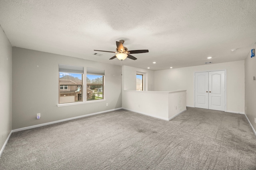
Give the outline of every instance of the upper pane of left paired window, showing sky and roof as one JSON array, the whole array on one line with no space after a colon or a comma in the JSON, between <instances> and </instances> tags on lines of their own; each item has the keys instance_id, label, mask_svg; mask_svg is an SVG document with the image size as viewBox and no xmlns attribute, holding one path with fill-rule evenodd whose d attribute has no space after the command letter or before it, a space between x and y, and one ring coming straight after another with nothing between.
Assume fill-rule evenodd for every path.
<instances>
[{"instance_id":1,"label":"upper pane of left paired window, showing sky and roof","mask_svg":"<svg viewBox=\"0 0 256 170\"><path fill-rule=\"evenodd\" d=\"M60 84L82 84L82 74L60 72Z\"/></svg>"}]
</instances>

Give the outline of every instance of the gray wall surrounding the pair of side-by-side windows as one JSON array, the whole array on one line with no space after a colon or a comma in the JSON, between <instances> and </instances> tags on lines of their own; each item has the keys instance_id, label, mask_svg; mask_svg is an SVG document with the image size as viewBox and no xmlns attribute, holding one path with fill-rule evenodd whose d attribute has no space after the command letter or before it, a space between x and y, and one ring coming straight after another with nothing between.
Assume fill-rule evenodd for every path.
<instances>
[{"instance_id":1,"label":"gray wall surrounding the pair of side-by-side windows","mask_svg":"<svg viewBox=\"0 0 256 170\"><path fill-rule=\"evenodd\" d=\"M18 47L12 60L12 129L122 107L120 66ZM57 107L58 64L104 69L106 101Z\"/></svg>"}]
</instances>

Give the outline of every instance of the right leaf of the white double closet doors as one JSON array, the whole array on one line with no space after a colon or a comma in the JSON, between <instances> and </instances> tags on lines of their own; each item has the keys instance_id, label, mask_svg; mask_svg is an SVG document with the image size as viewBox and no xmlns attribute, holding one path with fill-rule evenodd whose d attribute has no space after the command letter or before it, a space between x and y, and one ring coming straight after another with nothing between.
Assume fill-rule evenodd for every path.
<instances>
[{"instance_id":1,"label":"right leaf of the white double closet doors","mask_svg":"<svg viewBox=\"0 0 256 170\"><path fill-rule=\"evenodd\" d=\"M225 110L225 72L209 72L209 109Z\"/></svg>"}]
</instances>

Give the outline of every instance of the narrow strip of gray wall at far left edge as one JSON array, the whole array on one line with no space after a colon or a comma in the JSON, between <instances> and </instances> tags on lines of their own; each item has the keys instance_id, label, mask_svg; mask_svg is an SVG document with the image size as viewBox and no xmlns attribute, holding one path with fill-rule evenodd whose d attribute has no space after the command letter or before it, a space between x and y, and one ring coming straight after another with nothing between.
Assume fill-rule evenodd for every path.
<instances>
[{"instance_id":1,"label":"narrow strip of gray wall at far left edge","mask_svg":"<svg viewBox=\"0 0 256 170\"><path fill-rule=\"evenodd\" d=\"M0 150L12 130L12 46L0 27ZM1 154L1 153L0 153Z\"/></svg>"}]
</instances>

